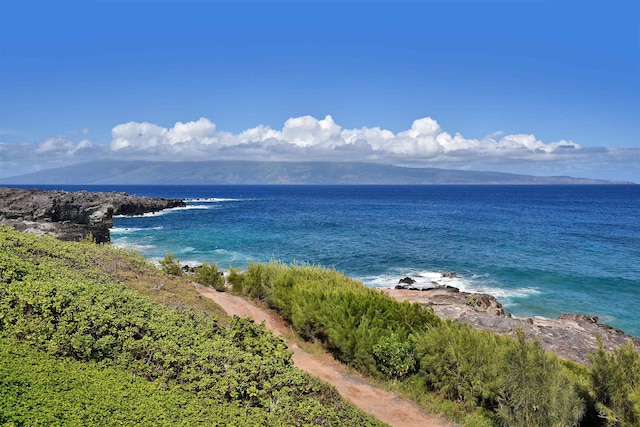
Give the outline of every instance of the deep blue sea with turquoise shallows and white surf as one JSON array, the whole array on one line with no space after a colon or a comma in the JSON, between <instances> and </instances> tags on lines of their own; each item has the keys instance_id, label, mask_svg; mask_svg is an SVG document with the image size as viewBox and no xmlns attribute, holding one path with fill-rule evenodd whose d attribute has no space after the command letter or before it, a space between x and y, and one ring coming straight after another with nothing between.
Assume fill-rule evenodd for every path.
<instances>
[{"instance_id":1,"label":"deep blue sea with turquoise shallows and white surf","mask_svg":"<svg viewBox=\"0 0 640 427\"><path fill-rule=\"evenodd\" d=\"M304 261L374 287L412 276L491 293L515 315L586 313L640 336L640 186L87 189L189 199L115 220L113 242L151 259Z\"/></svg>"}]
</instances>

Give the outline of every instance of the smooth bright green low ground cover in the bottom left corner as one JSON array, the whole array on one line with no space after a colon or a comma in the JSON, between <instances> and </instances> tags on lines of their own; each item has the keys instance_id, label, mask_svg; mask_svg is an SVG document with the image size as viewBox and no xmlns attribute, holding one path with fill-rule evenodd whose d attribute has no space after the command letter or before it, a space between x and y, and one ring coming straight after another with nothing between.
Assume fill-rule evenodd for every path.
<instances>
[{"instance_id":1,"label":"smooth bright green low ground cover in the bottom left corner","mask_svg":"<svg viewBox=\"0 0 640 427\"><path fill-rule=\"evenodd\" d=\"M253 408L198 398L122 369L59 359L0 338L0 425L284 424Z\"/></svg>"}]
</instances>

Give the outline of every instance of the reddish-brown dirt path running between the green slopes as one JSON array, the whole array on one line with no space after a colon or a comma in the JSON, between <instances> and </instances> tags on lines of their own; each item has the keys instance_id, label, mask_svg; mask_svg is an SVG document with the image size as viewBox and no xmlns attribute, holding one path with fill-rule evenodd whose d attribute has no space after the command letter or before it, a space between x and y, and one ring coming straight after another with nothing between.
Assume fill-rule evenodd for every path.
<instances>
[{"instance_id":1,"label":"reddish-brown dirt path running between the green slopes","mask_svg":"<svg viewBox=\"0 0 640 427\"><path fill-rule=\"evenodd\" d=\"M257 323L266 323L274 335L282 335L287 325L277 314L257 307L249 301L217 292L195 284L203 296L212 299L231 316L251 317ZM351 403L377 419L396 427L453 427L442 417L426 414L415 403L380 389L363 378L347 373L337 361L319 357L303 351L296 344L289 345L293 351L293 363L303 371L333 385Z\"/></svg>"}]
</instances>

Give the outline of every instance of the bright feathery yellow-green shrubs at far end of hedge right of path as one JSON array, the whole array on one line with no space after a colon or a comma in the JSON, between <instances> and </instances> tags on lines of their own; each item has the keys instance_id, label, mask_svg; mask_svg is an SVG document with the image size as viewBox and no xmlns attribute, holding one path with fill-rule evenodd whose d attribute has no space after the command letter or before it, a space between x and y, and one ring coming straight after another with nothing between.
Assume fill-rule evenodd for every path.
<instances>
[{"instance_id":1,"label":"bright feathery yellow-green shrubs at far end of hedge right of path","mask_svg":"<svg viewBox=\"0 0 640 427\"><path fill-rule=\"evenodd\" d=\"M382 375L373 347L395 335L440 323L418 304L400 303L335 270L277 261L250 264L242 275L230 274L235 293L258 298L278 310L303 338L319 340L341 361Z\"/></svg>"}]
</instances>

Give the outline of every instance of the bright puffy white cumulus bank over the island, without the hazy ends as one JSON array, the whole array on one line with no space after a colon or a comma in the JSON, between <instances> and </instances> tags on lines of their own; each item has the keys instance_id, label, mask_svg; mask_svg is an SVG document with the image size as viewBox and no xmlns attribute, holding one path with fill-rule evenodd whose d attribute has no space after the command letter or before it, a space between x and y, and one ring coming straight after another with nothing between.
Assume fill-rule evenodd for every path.
<instances>
[{"instance_id":1,"label":"bright puffy white cumulus bank over the island, without the hazy ends","mask_svg":"<svg viewBox=\"0 0 640 427\"><path fill-rule=\"evenodd\" d=\"M343 129L327 115L293 117L282 129L259 125L239 134L221 132L206 118L171 128L129 122L112 130L110 148L129 156L167 159L352 160L411 164L462 164L480 161L550 161L579 155L573 141L545 143L532 134L482 139L450 134L431 117L405 131L379 127ZM348 156L348 157L347 157Z\"/></svg>"}]
</instances>

